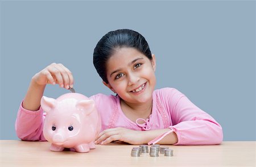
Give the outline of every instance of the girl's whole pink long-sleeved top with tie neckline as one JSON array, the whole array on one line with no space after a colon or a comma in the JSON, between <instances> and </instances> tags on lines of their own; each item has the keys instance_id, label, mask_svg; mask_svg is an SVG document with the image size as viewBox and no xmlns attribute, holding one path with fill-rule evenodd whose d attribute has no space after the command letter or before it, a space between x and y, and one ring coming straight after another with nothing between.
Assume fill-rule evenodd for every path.
<instances>
[{"instance_id":1,"label":"girl's whole pink long-sleeved top with tie neckline","mask_svg":"<svg viewBox=\"0 0 256 167\"><path fill-rule=\"evenodd\" d=\"M101 131L114 127L125 127L137 131L170 128L177 134L176 145L221 143L223 134L220 124L212 116L195 106L180 91L166 87L155 90L152 98L150 118L137 119L137 123L134 123L123 114L118 95L96 94L90 97L96 102L97 109L101 114ZM24 109L21 104L15 122L18 137L22 140L45 141L43 136L44 117L45 114L41 107L38 111L30 111ZM139 124L142 122L139 120L143 120L144 123Z\"/></svg>"}]
</instances>

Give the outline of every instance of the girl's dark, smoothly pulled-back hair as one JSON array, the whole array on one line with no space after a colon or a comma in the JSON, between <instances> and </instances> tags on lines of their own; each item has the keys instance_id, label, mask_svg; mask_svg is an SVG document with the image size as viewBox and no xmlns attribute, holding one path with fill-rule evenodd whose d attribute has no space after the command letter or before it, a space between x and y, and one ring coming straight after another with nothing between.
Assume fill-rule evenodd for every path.
<instances>
[{"instance_id":1,"label":"girl's dark, smoothly pulled-back hair","mask_svg":"<svg viewBox=\"0 0 256 167\"><path fill-rule=\"evenodd\" d=\"M123 47L135 48L152 60L150 48L141 34L128 29L110 31L98 41L93 52L93 64L106 83L109 83L106 77L106 62L114 54L115 49Z\"/></svg>"}]
</instances>

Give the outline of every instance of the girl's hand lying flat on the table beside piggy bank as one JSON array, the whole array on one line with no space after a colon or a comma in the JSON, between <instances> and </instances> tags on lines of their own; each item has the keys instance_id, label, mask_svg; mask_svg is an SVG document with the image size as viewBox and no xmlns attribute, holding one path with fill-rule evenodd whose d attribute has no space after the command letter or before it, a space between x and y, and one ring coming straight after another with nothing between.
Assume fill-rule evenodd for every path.
<instances>
[{"instance_id":1,"label":"girl's hand lying flat on the table beside piggy bank","mask_svg":"<svg viewBox=\"0 0 256 167\"><path fill-rule=\"evenodd\" d=\"M117 140L130 144L143 144L141 131L133 131L123 127L110 128L100 132L94 143L108 144Z\"/></svg>"}]
</instances>

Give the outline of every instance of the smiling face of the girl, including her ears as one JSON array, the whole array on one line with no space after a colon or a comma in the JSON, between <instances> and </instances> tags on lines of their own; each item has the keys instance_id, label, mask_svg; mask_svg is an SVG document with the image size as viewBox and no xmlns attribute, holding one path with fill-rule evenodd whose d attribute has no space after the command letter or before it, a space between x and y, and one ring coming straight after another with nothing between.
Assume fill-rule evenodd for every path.
<instances>
[{"instance_id":1,"label":"smiling face of the girl, including her ears","mask_svg":"<svg viewBox=\"0 0 256 167\"><path fill-rule=\"evenodd\" d=\"M149 60L134 48L117 49L106 62L106 86L126 103L152 101L155 88L155 55Z\"/></svg>"}]
</instances>

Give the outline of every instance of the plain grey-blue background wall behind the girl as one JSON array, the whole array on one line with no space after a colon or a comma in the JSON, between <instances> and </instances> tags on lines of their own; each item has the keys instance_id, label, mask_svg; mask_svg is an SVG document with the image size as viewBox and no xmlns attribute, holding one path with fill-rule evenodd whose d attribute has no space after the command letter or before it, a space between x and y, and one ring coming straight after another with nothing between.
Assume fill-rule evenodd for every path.
<instances>
[{"instance_id":1,"label":"plain grey-blue background wall behind the girl","mask_svg":"<svg viewBox=\"0 0 256 167\"><path fill-rule=\"evenodd\" d=\"M255 1L1 1L1 139L31 77L52 62L87 96L111 94L93 49L119 28L140 32L156 55L156 89L175 87L213 116L224 140L255 140ZM44 95L68 93L48 85Z\"/></svg>"}]
</instances>

